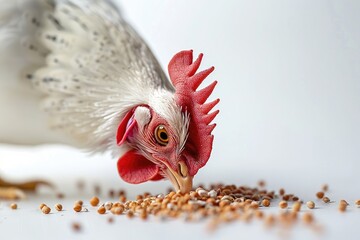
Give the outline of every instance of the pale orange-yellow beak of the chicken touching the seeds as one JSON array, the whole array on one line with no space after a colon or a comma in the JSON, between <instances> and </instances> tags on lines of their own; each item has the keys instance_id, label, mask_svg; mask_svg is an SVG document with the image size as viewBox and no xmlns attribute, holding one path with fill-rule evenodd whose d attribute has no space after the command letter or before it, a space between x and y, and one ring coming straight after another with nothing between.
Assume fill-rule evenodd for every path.
<instances>
[{"instance_id":1,"label":"pale orange-yellow beak of the chicken touching the seeds","mask_svg":"<svg viewBox=\"0 0 360 240\"><path fill-rule=\"evenodd\" d=\"M191 191L193 176L189 175L188 167L183 161L178 163L177 171L174 171L171 167L167 166L164 172L170 179L176 191L180 190L181 193Z\"/></svg>"}]
</instances>

